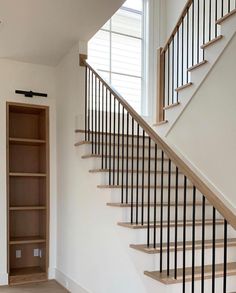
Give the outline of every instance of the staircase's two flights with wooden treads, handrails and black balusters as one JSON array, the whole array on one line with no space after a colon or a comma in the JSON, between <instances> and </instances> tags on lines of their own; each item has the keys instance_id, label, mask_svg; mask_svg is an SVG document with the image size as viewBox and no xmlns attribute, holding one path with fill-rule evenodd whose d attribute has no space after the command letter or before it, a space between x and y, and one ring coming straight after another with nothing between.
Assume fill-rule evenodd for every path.
<instances>
[{"instance_id":1,"label":"staircase's two flights with wooden treads, handrails and black balusters","mask_svg":"<svg viewBox=\"0 0 236 293\"><path fill-rule=\"evenodd\" d=\"M209 0L207 3L212 5L213 2ZM169 58L170 45L176 36L179 44L179 29L184 31L186 17L189 22L190 9L194 15L194 7L198 7L200 19L199 3L187 2L168 45L160 50L163 70L159 75L160 124L166 123L165 111L179 104L178 93L192 86L188 72L207 63L200 48L204 50L222 38L214 26L214 33L209 33L207 42L198 42L198 49L192 48L190 68L183 61L184 53L182 59L178 54L176 59L173 50L173 60L179 61L177 69L172 63L174 78L166 83L170 68L166 67L165 58ZM224 14L225 2L215 1L214 9L209 7L209 17L213 19L213 12L216 18L218 9L223 15L219 20L214 18L217 23L233 16L235 6L232 8L230 1L226 4L227 13ZM206 10L201 11L204 16ZM183 31L182 36L185 35ZM200 35L200 29L197 35ZM211 39L212 35L215 37ZM195 64L193 56L196 53ZM83 154L82 158L94 161L90 173L104 175L104 182L97 187L111 189L114 194L107 205L124 210L126 220L118 225L139 233L140 239L145 239L141 243L130 244L134 251L154 258L155 269L144 274L162 284L172 285L170 290L173 292L235 291L235 215L87 61L83 60L83 65L85 129L76 130L83 136L76 146L89 147L89 153ZM174 90L180 68L182 75L187 74L186 83L182 78ZM187 73L184 73L184 68ZM169 90L170 84L172 91Z\"/></svg>"}]
</instances>

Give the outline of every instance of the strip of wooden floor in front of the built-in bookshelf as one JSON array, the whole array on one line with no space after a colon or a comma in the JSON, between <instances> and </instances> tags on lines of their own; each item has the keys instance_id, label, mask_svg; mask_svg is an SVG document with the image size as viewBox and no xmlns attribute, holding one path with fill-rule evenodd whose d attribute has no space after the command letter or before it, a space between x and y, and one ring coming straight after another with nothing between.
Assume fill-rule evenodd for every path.
<instances>
[{"instance_id":1,"label":"strip of wooden floor in front of the built-in bookshelf","mask_svg":"<svg viewBox=\"0 0 236 293\"><path fill-rule=\"evenodd\" d=\"M1 293L66 293L69 292L55 281L14 287L0 287Z\"/></svg>"}]
</instances>

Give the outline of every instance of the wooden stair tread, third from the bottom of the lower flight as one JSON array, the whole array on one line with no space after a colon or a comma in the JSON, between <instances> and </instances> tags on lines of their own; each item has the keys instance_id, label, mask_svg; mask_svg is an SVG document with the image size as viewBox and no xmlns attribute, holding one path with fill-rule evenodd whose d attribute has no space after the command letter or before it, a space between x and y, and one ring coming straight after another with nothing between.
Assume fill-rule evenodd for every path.
<instances>
[{"instance_id":1,"label":"wooden stair tread, third from the bottom of the lower flight","mask_svg":"<svg viewBox=\"0 0 236 293\"><path fill-rule=\"evenodd\" d=\"M212 225L213 221L212 220L205 220L205 226L210 226ZM186 221L186 226L192 226L193 222L192 220L187 220ZM223 225L224 224L224 220L221 219L217 219L216 220L216 225ZM130 228L130 229L146 229L148 227L147 222L144 222L143 225L141 223L139 224L131 224L130 222L119 222L118 223L119 226L121 227L125 227L125 228ZM167 227L168 223L167 221L163 221L162 225L164 228ZM202 225L202 220L196 220L195 221L195 226L201 226ZM177 223L178 227L182 227L183 226L183 221L178 221ZM150 222L150 228L154 227L154 222ZM160 228L161 227L161 222L157 221L156 222L156 228ZM170 221L170 227L175 227L175 221Z\"/></svg>"}]
</instances>

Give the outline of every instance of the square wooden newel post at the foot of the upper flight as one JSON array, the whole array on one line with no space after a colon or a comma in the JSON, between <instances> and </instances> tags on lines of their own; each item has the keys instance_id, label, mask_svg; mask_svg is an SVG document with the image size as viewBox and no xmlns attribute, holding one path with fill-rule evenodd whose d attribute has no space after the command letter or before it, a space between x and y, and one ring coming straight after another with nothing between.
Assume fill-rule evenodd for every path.
<instances>
[{"instance_id":1,"label":"square wooden newel post at the foot of the upper flight","mask_svg":"<svg viewBox=\"0 0 236 293\"><path fill-rule=\"evenodd\" d=\"M157 50L157 123L163 122L164 117L164 78L165 78L165 54L162 48Z\"/></svg>"}]
</instances>

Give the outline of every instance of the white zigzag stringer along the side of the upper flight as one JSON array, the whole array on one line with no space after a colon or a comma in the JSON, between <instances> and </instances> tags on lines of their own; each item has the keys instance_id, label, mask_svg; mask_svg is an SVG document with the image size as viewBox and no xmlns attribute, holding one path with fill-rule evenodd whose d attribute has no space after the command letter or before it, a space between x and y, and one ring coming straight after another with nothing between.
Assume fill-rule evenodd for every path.
<instances>
[{"instance_id":1,"label":"white zigzag stringer along the side of the upper flight","mask_svg":"<svg viewBox=\"0 0 236 293\"><path fill-rule=\"evenodd\" d=\"M193 84L179 93L180 104L177 107L172 107L165 111L165 120L167 120L168 123L153 126L154 130L160 136L165 137L171 131L184 109L188 106L202 83L211 73L211 70L227 48L227 45L230 43L235 33L236 14L233 14L221 24L221 34L223 35L223 38L205 48L205 60L207 63L190 72L190 81Z\"/></svg>"}]
</instances>

